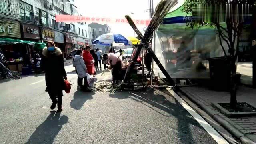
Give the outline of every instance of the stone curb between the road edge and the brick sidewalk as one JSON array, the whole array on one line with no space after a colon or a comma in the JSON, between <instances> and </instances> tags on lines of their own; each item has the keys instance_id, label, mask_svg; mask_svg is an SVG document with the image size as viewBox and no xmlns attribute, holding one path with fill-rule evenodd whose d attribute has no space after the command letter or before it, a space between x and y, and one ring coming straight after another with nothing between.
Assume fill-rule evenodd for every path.
<instances>
[{"instance_id":1,"label":"stone curb between the road edge and the brick sidewalk","mask_svg":"<svg viewBox=\"0 0 256 144\"><path fill-rule=\"evenodd\" d=\"M236 127L234 127L232 124L230 124L227 120L222 118L220 114L206 106L204 103L200 102L196 98L194 98L191 95L186 94L186 92L182 91L180 88L178 89L180 92L188 97L192 102L197 104L204 110L210 117L212 117L214 120L216 120L219 124L221 124L224 128L226 128L228 131L230 131L236 138L240 139L243 144L256 144L253 142L250 138L245 136L240 130L238 130Z\"/></svg>"}]
</instances>

